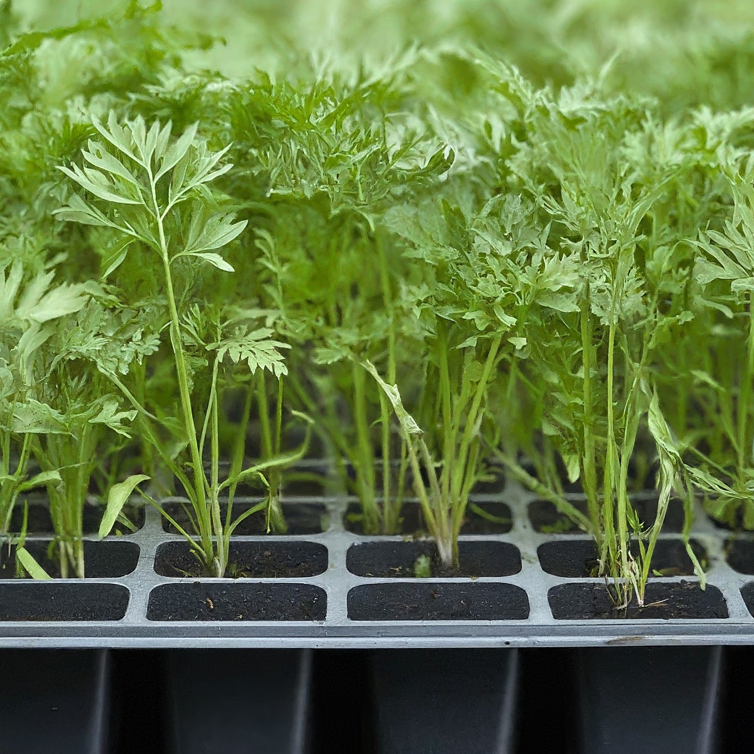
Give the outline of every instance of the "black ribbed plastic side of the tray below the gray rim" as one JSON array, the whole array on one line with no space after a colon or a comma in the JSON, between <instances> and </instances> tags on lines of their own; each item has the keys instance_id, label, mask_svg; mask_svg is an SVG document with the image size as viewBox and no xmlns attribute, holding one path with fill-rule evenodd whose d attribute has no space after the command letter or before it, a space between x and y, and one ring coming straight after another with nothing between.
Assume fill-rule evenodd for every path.
<instances>
[{"instance_id":1,"label":"black ribbed plastic side of the tray below the gray rim","mask_svg":"<svg viewBox=\"0 0 754 754\"><path fill-rule=\"evenodd\" d=\"M751 748L751 712L730 677L748 677L748 650L6 649L2 659L0 754Z\"/></svg>"}]
</instances>

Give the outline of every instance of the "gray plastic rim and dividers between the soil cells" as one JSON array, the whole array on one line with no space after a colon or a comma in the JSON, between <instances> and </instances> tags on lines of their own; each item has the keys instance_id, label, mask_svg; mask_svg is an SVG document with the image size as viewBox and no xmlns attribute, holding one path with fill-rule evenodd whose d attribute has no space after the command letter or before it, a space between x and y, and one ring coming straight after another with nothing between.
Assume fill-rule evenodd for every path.
<instances>
[{"instance_id":1,"label":"gray plastic rim and dividers between the soil cells","mask_svg":"<svg viewBox=\"0 0 754 754\"><path fill-rule=\"evenodd\" d=\"M466 540L507 541L519 548L522 569L504 578L480 578L516 584L529 596L529 618L523 621L351 621L347 615L348 590L357 584L395 583L397 579L364 578L348 572L345 554L351 544L374 540L373 537L346 532L342 526L345 507L353 498L297 497L284 504L320 502L326 505L329 527L317 535L287 535L288 539L314 541L329 551L329 568L311 578L250 579L251 582L288 581L314 584L325 590L328 610L325 621L233 622L158 622L146 619L149 592L158 584L196 581L158 575L153 562L159 544L180 540L161 528L158 511L147 508L143 529L120 539L139 544L136 570L113 579L87 579L87 582L122 584L130 591L127 613L121 621L41 622L0 621L0 647L67 647L67 648L431 648L431 647L538 647L599 645L746 645L754 643L754 618L749 614L740 587L754 576L735 572L725 561L725 541L730 532L718 529L700 510L693 530L706 547L710 568L708 584L721 590L728 605L729 618L715 620L590 620L556 621L547 602L547 591L556 584L572 583L541 569L537 547L545 541L572 539L574 535L535 532L529 522L527 507L535 498L513 483L495 495L474 495L477 502L502 501L513 513L510 532L498 535L468 535ZM678 535L661 535L677 537ZM253 541L268 536L238 536L238 541ZM29 538L31 539L31 538ZM401 537L394 539L400 540ZM663 578L662 581L691 581L691 577ZM210 579L202 581L213 581ZM405 581L405 580L404 580ZM452 581L470 581L457 578ZM579 579L594 581L599 579ZM31 586L31 584L30 584Z\"/></svg>"}]
</instances>

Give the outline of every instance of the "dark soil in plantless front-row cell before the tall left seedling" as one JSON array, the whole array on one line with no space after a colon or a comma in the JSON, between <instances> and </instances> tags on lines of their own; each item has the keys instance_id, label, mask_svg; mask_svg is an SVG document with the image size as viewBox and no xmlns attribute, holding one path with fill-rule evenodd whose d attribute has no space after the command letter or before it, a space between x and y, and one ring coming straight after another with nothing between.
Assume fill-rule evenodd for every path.
<instances>
[{"instance_id":1,"label":"dark soil in plantless front-row cell before the tall left seedling","mask_svg":"<svg viewBox=\"0 0 754 754\"><path fill-rule=\"evenodd\" d=\"M311 584L195 581L149 593L149 621L323 621L327 595Z\"/></svg>"}]
</instances>

